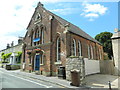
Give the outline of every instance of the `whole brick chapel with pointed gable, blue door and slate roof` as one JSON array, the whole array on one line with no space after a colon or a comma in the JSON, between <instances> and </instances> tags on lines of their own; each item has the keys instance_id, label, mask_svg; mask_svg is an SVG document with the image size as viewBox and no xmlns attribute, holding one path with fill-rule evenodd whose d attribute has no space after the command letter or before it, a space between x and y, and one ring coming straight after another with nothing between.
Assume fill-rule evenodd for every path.
<instances>
[{"instance_id":1,"label":"whole brick chapel with pointed gable, blue door and slate roof","mask_svg":"<svg viewBox=\"0 0 120 90\"><path fill-rule=\"evenodd\" d=\"M77 26L46 10L40 2L24 37L22 67L45 76L57 75L66 58L103 60L103 47Z\"/></svg>"}]
</instances>

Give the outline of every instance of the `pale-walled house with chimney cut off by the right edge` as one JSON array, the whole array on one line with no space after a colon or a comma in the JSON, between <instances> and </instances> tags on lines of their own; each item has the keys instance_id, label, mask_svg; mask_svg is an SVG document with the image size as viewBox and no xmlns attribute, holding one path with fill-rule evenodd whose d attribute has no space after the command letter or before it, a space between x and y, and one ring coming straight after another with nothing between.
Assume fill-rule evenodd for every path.
<instances>
[{"instance_id":1,"label":"pale-walled house with chimney cut off by the right edge","mask_svg":"<svg viewBox=\"0 0 120 90\"><path fill-rule=\"evenodd\" d=\"M112 38L112 48L113 48L113 57L115 61L115 74L120 75L120 31L118 29L114 30Z\"/></svg>"}]
</instances>

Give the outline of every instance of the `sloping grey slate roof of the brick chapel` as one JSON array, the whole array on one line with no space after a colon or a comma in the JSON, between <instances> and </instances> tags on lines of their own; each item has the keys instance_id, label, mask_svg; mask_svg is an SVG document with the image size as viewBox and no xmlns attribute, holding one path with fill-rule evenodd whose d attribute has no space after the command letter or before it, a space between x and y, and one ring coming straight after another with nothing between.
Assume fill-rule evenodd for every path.
<instances>
[{"instance_id":1,"label":"sloping grey slate roof of the brick chapel","mask_svg":"<svg viewBox=\"0 0 120 90\"><path fill-rule=\"evenodd\" d=\"M47 10L47 11L48 11L48 10ZM48 13L50 13L52 16L54 16L54 18L56 18L62 25L65 26L65 25L69 24L69 30L68 30L68 31L70 31L70 32L72 32L72 33L75 33L75 34L77 34L77 35L80 35L80 36L82 36L82 37L84 37L84 38L86 38L86 39L88 39L88 40L91 40L91 41L93 41L93 42L96 42L96 43L99 43L99 44L100 44L100 42L98 42L97 40L95 40L94 38L92 38L90 35L88 35L87 33L85 33L85 32L84 32L82 29L80 29L79 27L73 25L72 23L70 23L70 22L66 21L65 19L63 19L63 18L55 15L54 13L52 13L52 12L50 12L50 11L48 11Z\"/></svg>"}]
</instances>

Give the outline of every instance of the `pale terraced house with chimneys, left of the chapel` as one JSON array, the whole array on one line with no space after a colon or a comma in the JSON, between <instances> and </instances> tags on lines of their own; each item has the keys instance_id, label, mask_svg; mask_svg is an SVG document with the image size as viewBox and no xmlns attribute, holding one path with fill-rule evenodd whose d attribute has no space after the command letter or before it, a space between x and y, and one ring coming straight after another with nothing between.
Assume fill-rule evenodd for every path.
<instances>
[{"instance_id":1,"label":"pale terraced house with chimneys, left of the chapel","mask_svg":"<svg viewBox=\"0 0 120 90\"><path fill-rule=\"evenodd\" d=\"M7 44L6 49L0 50L0 59L1 61L3 61L2 59L2 53L4 54L9 54L9 57L5 60L7 62L9 62L9 64L16 64L16 63L20 63L21 62L21 57L17 57L18 52L22 52L22 37L19 37L18 39L18 44L14 45L14 42L10 44Z\"/></svg>"}]
</instances>

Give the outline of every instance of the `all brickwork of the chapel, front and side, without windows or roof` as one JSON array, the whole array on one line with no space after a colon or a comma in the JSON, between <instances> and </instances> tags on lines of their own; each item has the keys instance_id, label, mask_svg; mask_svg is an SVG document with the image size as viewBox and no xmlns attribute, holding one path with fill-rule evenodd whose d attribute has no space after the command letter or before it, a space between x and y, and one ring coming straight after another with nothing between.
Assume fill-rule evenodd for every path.
<instances>
[{"instance_id":1,"label":"all brickwork of the chapel, front and side, without windows or roof","mask_svg":"<svg viewBox=\"0 0 120 90\"><path fill-rule=\"evenodd\" d=\"M35 15L36 12L41 13L41 22L38 25L35 25ZM77 45L77 51L78 51L78 40L81 41L82 44L82 56L84 58L88 57L88 47L87 45L92 45L94 48L94 59L100 59L100 55L99 55L99 50L102 50L102 46L87 40L81 36L78 36L76 34L67 32L67 33L63 33L65 31L65 27L63 25L61 25L61 23L56 20L54 17L53 19L49 19L50 15L43 10L43 8L37 7L36 8L36 12L33 14L33 17L31 19L31 22L28 26L28 31L26 33L24 42L26 43L26 47L24 48L25 50L28 50L29 47L33 48L33 46L31 46L32 40L31 40L31 35L33 34L34 30L36 27L41 27L41 24L45 27L44 29L44 44L38 46L39 48L41 48L44 52L44 64L41 65L40 67L40 71L44 71L44 72L49 72L49 75L55 75L55 72L57 73L58 67L59 66L65 66L66 64L66 57L69 57L71 55L71 45L72 45L72 39L76 40L76 45ZM57 37L60 37L60 41L61 41L61 64L55 64L56 62L56 41L57 41ZM23 50L24 50L23 49ZM32 49L34 50L34 49ZM25 54L25 53L23 53ZM103 55L103 53L101 54ZM78 56L78 52L77 52L77 56ZM102 56L103 58L103 56ZM24 57L23 57L23 61L24 61ZM33 70L34 67L34 55L32 56L32 66L29 66L29 58L28 55L25 54L25 62L26 62L26 70ZM50 73L52 72L52 73Z\"/></svg>"}]
</instances>

